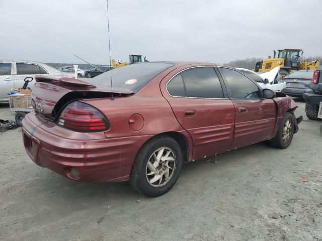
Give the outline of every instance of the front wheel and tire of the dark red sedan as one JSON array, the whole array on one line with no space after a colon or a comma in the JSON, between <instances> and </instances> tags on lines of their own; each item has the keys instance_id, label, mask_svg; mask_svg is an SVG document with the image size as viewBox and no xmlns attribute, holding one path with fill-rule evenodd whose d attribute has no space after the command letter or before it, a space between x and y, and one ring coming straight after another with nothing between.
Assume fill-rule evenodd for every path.
<instances>
[{"instance_id":1,"label":"front wheel and tire of the dark red sedan","mask_svg":"<svg viewBox=\"0 0 322 241\"><path fill-rule=\"evenodd\" d=\"M291 144L295 131L294 116L286 112L277 130L276 136L269 140L271 147L285 149Z\"/></svg>"}]
</instances>

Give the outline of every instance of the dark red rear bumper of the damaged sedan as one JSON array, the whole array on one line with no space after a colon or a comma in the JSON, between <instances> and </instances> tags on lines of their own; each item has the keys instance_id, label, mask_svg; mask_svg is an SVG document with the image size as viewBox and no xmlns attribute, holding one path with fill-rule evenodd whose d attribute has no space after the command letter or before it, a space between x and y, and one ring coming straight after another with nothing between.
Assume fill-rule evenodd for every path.
<instances>
[{"instance_id":1,"label":"dark red rear bumper of the damaged sedan","mask_svg":"<svg viewBox=\"0 0 322 241\"><path fill-rule=\"evenodd\" d=\"M60 128L60 132L54 132ZM29 157L39 166L78 181L128 180L132 163L140 147L151 136L107 139L102 135L89 139L88 133L76 133L52 127L34 113L23 119L22 135ZM82 135L84 138L82 140ZM104 137L104 138L103 138ZM78 176L71 169L76 168Z\"/></svg>"}]
</instances>

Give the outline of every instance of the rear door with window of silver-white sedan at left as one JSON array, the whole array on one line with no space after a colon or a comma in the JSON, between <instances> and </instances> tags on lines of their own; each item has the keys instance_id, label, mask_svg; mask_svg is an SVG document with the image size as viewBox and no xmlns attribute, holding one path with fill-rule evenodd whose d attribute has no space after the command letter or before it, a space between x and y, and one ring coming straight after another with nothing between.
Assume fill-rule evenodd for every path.
<instances>
[{"instance_id":1,"label":"rear door with window of silver-white sedan at left","mask_svg":"<svg viewBox=\"0 0 322 241\"><path fill-rule=\"evenodd\" d=\"M36 74L47 75L48 72L37 64L31 63L16 63L15 74L15 88L22 88L25 83L26 77L33 77L35 79ZM31 88L35 80L29 83L28 87Z\"/></svg>"}]
</instances>

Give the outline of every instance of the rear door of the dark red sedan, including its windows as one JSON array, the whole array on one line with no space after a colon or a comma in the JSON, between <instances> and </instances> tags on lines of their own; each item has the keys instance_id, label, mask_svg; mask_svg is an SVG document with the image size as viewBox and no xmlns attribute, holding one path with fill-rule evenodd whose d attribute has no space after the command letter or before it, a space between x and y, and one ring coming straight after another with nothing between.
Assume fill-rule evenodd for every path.
<instances>
[{"instance_id":1,"label":"rear door of the dark red sedan, including its windows","mask_svg":"<svg viewBox=\"0 0 322 241\"><path fill-rule=\"evenodd\" d=\"M163 95L192 137L193 160L227 151L233 136L234 106L215 67L183 67L169 75Z\"/></svg>"}]
</instances>

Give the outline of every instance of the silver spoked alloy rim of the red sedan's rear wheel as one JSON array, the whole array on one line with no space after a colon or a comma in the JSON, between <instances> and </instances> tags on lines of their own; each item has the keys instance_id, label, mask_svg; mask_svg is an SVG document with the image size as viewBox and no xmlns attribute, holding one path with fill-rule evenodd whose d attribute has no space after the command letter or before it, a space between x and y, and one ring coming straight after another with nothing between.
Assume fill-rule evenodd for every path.
<instances>
[{"instance_id":1,"label":"silver spoked alloy rim of the red sedan's rear wheel","mask_svg":"<svg viewBox=\"0 0 322 241\"><path fill-rule=\"evenodd\" d=\"M157 149L146 164L146 180L153 187L161 187L169 182L176 168L176 155L170 148Z\"/></svg>"}]
</instances>

